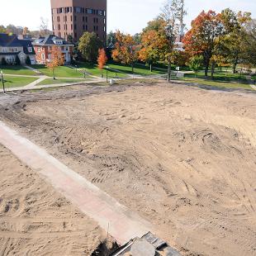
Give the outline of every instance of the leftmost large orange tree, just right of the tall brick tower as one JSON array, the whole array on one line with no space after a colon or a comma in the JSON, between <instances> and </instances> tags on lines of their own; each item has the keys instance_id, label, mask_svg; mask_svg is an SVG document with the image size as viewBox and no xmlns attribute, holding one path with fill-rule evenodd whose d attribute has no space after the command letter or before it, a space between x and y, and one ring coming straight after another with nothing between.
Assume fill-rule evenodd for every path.
<instances>
[{"instance_id":1,"label":"leftmost large orange tree, just right of the tall brick tower","mask_svg":"<svg viewBox=\"0 0 256 256\"><path fill-rule=\"evenodd\" d=\"M112 58L121 64L131 65L131 71L134 73L134 64L138 60L140 47L136 45L135 40L130 34L122 34L116 31L115 49L112 51Z\"/></svg>"}]
</instances>

